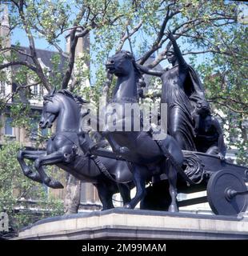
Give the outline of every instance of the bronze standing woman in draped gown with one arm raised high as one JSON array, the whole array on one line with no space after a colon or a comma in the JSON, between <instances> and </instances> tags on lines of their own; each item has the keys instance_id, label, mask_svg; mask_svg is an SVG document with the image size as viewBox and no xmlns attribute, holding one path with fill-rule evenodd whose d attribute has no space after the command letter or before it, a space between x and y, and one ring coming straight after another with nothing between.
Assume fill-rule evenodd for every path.
<instances>
[{"instance_id":1,"label":"bronze standing woman in draped gown with one arm raised high","mask_svg":"<svg viewBox=\"0 0 248 256\"><path fill-rule=\"evenodd\" d=\"M158 71L138 65L138 69L142 73L162 79L161 102L168 104L168 133L177 140L182 150L195 151L194 122L191 114L197 102L205 98L204 90L198 75L182 57L173 34L168 31L167 36L173 49L168 50L166 56L173 67Z\"/></svg>"}]
</instances>

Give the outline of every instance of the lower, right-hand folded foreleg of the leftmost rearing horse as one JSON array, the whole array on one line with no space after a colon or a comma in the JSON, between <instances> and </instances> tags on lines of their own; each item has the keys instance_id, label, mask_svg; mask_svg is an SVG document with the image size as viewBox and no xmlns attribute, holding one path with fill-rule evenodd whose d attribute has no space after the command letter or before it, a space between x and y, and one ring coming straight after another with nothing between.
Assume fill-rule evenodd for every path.
<instances>
[{"instance_id":1,"label":"lower, right-hand folded foreleg of the leftmost rearing horse","mask_svg":"<svg viewBox=\"0 0 248 256\"><path fill-rule=\"evenodd\" d=\"M58 181L54 181L52 178L48 177L46 172L43 170L43 165L53 165L58 162L63 162L64 155L61 152L54 152L52 154L41 155L34 161L34 167L38 170L41 175L42 181L46 186L50 186L54 189L62 189L64 186Z\"/></svg>"}]
</instances>

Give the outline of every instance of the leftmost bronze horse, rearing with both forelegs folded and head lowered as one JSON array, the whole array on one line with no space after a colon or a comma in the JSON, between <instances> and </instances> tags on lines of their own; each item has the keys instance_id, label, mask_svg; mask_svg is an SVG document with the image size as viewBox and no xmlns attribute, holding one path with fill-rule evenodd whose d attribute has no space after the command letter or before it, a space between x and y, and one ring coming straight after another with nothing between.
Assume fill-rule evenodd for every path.
<instances>
[{"instance_id":1,"label":"leftmost bronze horse, rearing with both forelegs folded and head lowered","mask_svg":"<svg viewBox=\"0 0 248 256\"><path fill-rule=\"evenodd\" d=\"M115 193L120 192L123 203L130 202L133 175L126 161L92 158L85 154L92 143L88 134L78 133L81 106L85 102L68 90L53 90L45 95L39 126L50 128L57 120L55 133L46 143L46 150L20 150L18 162L26 177L54 189L63 186L48 177L43 166L56 165L82 182L92 182L98 190L102 210L107 210L114 207L112 196ZM37 172L26 165L25 159L34 162ZM105 172L102 172L103 169Z\"/></svg>"}]
</instances>

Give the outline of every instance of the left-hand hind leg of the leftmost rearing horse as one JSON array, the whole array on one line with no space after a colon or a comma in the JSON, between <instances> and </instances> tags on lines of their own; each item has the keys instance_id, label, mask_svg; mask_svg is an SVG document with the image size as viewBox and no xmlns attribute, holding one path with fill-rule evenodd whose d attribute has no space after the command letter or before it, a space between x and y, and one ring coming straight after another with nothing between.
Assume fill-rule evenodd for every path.
<instances>
[{"instance_id":1,"label":"left-hand hind leg of the leftmost rearing horse","mask_svg":"<svg viewBox=\"0 0 248 256\"><path fill-rule=\"evenodd\" d=\"M113 192L110 191L110 185L106 186L105 183L97 183L94 186L98 190L98 196L102 202L102 210L108 210L114 208L113 205Z\"/></svg>"}]
</instances>

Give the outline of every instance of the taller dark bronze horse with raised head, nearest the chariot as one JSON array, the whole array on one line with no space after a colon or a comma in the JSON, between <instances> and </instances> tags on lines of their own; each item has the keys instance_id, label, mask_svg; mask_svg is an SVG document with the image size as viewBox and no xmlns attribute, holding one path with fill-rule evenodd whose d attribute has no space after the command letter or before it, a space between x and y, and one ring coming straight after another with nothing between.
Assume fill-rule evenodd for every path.
<instances>
[{"instance_id":1,"label":"taller dark bronze horse with raised head, nearest the chariot","mask_svg":"<svg viewBox=\"0 0 248 256\"><path fill-rule=\"evenodd\" d=\"M183 162L183 154L178 142L169 134L165 139L155 141L146 131L113 130L113 127L109 126L113 119L116 124L123 127L126 118L123 112L117 109L124 110L126 103L138 103L137 85L141 74L134 56L125 50L114 54L107 60L106 70L117 77L117 82L113 97L106 106L106 126L102 134L116 154L132 162L134 184L137 189L134 198L125 207L133 209L138 202L142 201L146 195L146 181L150 181L157 168L160 174L165 173L168 178L171 198L169 211L178 211L177 170ZM99 122L99 118L96 120L92 116L90 122ZM94 154L98 154L97 150Z\"/></svg>"}]
</instances>

